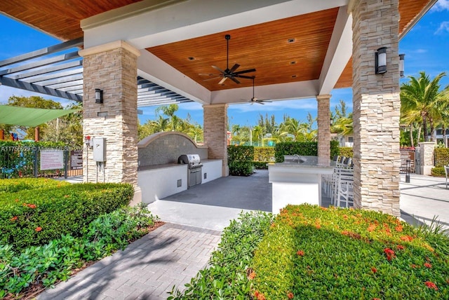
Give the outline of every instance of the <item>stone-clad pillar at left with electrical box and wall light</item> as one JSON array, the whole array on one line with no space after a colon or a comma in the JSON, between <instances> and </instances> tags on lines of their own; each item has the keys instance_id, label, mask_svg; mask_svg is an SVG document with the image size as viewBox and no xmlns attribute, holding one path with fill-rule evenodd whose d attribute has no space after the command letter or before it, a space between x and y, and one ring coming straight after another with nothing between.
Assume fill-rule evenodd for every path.
<instances>
[{"instance_id":1,"label":"stone-clad pillar at left with electrical box and wall light","mask_svg":"<svg viewBox=\"0 0 449 300\"><path fill-rule=\"evenodd\" d=\"M80 50L83 56L83 135L105 137L104 169L83 151L84 182L138 182L137 59L139 50L124 41ZM95 88L103 103L95 103Z\"/></svg>"}]
</instances>

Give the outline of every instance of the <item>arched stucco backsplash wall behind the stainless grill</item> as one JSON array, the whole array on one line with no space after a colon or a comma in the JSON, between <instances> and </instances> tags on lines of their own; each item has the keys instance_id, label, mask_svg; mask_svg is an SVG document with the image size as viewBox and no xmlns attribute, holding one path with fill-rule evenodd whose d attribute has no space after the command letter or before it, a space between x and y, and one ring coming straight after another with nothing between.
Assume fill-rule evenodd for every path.
<instances>
[{"instance_id":1,"label":"arched stucco backsplash wall behind the stainless grill","mask_svg":"<svg viewBox=\"0 0 449 300\"><path fill-rule=\"evenodd\" d=\"M199 154L201 161L208 158L207 146L197 146L182 132L164 131L149 135L138 143L140 167L177 163L182 154Z\"/></svg>"}]
</instances>

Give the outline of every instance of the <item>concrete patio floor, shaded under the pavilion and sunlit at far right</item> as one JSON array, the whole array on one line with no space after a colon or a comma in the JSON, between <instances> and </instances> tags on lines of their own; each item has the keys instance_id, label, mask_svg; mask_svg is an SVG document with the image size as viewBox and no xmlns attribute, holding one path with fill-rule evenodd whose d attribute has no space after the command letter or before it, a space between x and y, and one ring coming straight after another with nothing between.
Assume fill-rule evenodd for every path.
<instances>
[{"instance_id":1,"label":"concrete patio floor, shaded under the pavilion and sunlit at far right","mask_svg":"<svg viewBox=\"0 0 449 300\"><path fill-rule=\"evenodd\" d=\"M449 187L445 189L444 178L412 174L410 183L406 183L405 175L401 175L400 188L402 219L419 225L431 224L436 217L449 229ZM330 200L323 198L323 206L328 205ZM257 170L250 177L222 177L194 186L148 207L163 221L222 230L240 212L271 211L272 184L267 170Z\"/></svg>"}]
</instances>

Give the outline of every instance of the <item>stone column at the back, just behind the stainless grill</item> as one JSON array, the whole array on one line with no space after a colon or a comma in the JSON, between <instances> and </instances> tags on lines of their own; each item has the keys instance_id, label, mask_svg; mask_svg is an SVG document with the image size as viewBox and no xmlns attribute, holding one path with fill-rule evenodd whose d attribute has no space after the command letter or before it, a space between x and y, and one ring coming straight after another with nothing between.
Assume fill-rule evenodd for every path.
<instances>
[{"instance_id":1,"label":"stone column at the back, just behind the stainless grill","mask_svg":"<svg viewBox=\"0 0 449 300\"><path fill-rule=\"evenodd\" d=\"M222 176L229 176L227 165L227 107L228 104L203 105L203 135L208 146L208 158L221 159Z\"/></svg>"}]
</instances>

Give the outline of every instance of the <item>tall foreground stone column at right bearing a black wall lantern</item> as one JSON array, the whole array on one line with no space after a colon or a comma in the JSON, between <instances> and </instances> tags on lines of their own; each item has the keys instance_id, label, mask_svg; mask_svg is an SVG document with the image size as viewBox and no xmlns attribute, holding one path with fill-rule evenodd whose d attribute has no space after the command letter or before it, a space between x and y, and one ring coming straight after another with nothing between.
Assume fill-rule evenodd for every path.
<instances>
[{"instance_id":1,"label":"tall foreground stone column at right bearing a black wall lantern","mask_svg":"<svg viewBox=\"0 0 449 300\"><path fill-rule=\"evenodd\" d=\"M359 0L352 7L354 206L399 211L398 0ZM387 47L387 73L375 74L375 52Z\"/></svg>"}]
</instances>

